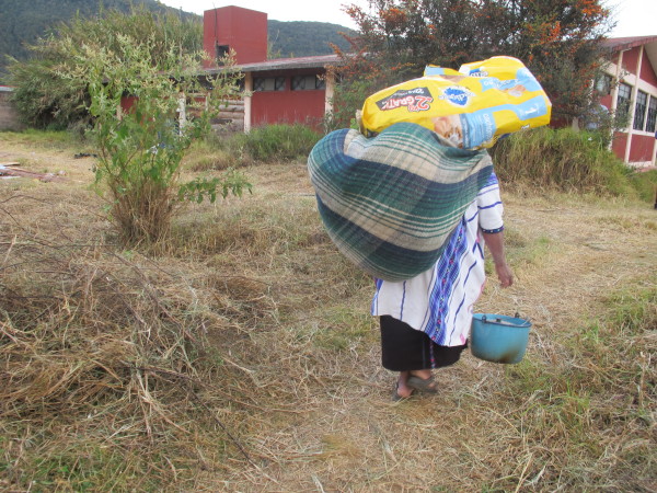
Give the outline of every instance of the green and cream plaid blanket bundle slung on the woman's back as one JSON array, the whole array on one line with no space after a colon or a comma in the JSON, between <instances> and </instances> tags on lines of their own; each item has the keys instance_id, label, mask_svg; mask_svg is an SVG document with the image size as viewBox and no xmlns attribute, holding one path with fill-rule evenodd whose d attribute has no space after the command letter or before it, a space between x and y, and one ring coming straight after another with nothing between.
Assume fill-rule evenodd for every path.
<instances>
[{"instance_id":1,"label":"green and cream plaid blanket bundle slung on the woman's back","mask_svg":"<svg viewBox=\"0 0 657 493\"><path fill-rule=\"evenodd\" d=\"M397 123L377 137L336 130L308 169L328 236L374 277L428 270L493 171L486 151L448 147L434 131Z\"/></svg>"}]
</instances>

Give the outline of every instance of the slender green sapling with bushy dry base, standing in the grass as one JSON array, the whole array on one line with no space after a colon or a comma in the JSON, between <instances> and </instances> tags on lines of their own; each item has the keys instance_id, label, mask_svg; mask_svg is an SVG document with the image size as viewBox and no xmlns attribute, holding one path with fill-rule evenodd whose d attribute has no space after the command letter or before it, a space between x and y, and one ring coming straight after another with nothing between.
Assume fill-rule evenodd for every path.
<instances>
[{"instance_id":1,"label":"slender green sapling with bushy dry base, standing in the grass","mask_svg":"<svg viewBox=\"0 0 657 493\"><path fill-rule=\"evenodd\" d=\"M100 150L95 170L99 191L110 199L111 219L125 244L154 243L165 238L171 219L185 200L214 200L241 195L251 185L235 172L222 179L180 184L180 167L192 141L210 130L221 101L232 96L239 77L227 60L217 78L200 78L200 53L162 50L151 61L154 36L136 39L117 34L112 49L77 46L62 39L73 59L59 76L82 80L89 90L91 135ZM131 105L122 110L128 96ZM178 124L177 112L189 105L195 117Z\"/></svg>"}]
</instances>

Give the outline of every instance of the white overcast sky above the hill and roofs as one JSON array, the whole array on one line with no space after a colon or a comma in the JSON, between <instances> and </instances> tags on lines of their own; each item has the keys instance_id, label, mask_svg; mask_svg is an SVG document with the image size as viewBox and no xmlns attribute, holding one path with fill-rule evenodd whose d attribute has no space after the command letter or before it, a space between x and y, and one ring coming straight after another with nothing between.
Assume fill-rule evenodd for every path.
<instances>
[{"instance_id":1,"label":"white overcast sky above the hill and roofs","mask_svg":"<svg viewBox=\"0 0 657 493\"><path fill-rule=\"evenodd\" d=\"M182 8L186 12L203 15L206 10L238 5L266 12L273 21L331 22L355 28L351 18L342 7L357 4L367 7L367 0L160 0L162 3ZM657 35L657 0L603 0L615 12L616 27L610 37Z\"/></svg>"}]
</instances>

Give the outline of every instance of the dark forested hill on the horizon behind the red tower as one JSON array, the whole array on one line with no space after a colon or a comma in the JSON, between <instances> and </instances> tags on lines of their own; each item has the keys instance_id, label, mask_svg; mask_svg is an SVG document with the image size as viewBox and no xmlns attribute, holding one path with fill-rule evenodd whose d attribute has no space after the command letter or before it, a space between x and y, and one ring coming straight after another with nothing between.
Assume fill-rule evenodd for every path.
<instances>
[{"instance_id":1,"label":"dark forested hill on the horizon behind the red tower","mask_svg":"<svg viewBox=\"0 0 657 493\"><path fill-rule=\"evenodd\" d=\"M199 15L165 7L157 0L0 0L0 82L5 56L27 58L30 53L24 45L33 44L59 22L72 19L76 13L82 16L97 15L101 9L129 12L131 4L143 4L149 10L174 12L201 22ZM353 34L337 24L270 20L268 35L272 57L325 55L332 53L331 43L346 49L347 44L339 32Z\"/></svg>"}]
</instances>

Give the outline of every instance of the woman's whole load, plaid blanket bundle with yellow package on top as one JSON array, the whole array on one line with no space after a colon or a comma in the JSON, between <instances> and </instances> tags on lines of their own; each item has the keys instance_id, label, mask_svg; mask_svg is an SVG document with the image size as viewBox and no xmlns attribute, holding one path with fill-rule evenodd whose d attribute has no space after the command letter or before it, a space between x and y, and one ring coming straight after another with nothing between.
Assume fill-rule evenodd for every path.
<instances>
[{"instance_id":1,"label":"woman's whole load, plaid blanket bundle with yellow package on top","mask_svg":"<svg viewBox=\"0 0 657 493\"><path fill-rule=\"evenodd\" d=\"M493 171L482 149L546 125L550 111L534 77L509 57L458 72L427 67L423 78L372 94L361 131L328 134L308 159L328 236L381 279L430 268Z\"/></svg>"}]
</instances>

